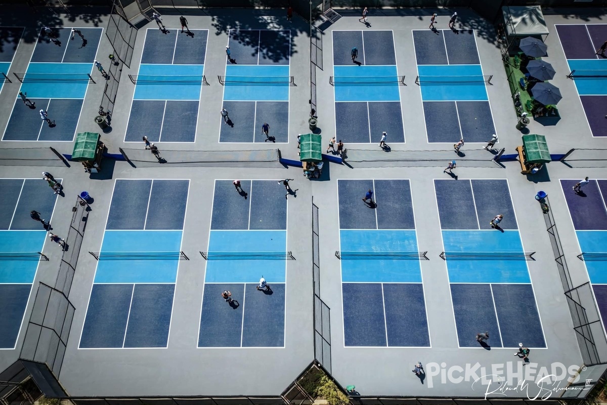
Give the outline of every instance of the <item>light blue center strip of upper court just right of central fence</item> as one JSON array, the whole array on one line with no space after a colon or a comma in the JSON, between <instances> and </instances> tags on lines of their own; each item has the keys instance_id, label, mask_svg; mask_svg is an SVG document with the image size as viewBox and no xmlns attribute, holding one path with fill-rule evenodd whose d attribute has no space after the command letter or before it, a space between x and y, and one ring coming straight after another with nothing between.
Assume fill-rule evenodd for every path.
<instances>
[{"instance_id":1,"label":"light blue center strip of upper court just right of central fence","mask_svg":"<svg viewBox=\"0 0 607 405\"><path fill-rule=\"evenodd\" d=\"M396 66L334 66L335 101L400 101ZM339 83L340 78L360 83ZM388 77L390 83L373 83ZM345 80L345 79L342 79ZM393 80L393 82L392 82ZM368 84L364 84L368 83Z\"/></svg>"}]
</instances>

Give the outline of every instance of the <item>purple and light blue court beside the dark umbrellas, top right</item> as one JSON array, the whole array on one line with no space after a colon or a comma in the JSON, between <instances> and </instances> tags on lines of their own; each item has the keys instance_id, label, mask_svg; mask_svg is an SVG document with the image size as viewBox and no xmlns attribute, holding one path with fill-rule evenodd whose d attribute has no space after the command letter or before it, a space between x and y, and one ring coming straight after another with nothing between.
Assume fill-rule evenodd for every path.
<instances>
[{"instance_id":1,"label":"purple and light blue court beside the dark umbrellas, top right","mask_svg":"<svg viewBox=\"0 0 607 405\"><path fill-rule=\"evenodd\" d=\"M575 70L575 87L592 136L607 137L603 108L607 104L607 56L597 55L597 49L607 38L607 24L556 24L555 27L569 70Z\"/></svg>"}]
</instances>

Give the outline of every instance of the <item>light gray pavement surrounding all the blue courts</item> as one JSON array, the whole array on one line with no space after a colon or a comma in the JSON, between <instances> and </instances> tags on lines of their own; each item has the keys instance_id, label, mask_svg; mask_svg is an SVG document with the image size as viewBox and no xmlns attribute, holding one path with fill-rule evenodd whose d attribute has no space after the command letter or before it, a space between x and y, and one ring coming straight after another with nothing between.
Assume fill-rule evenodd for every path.
<instances>
[{"instance_id":1,"label":"light gray pavement surrounding all the blue courts","mask_svg":"<svg viewBox=\"0 0 607 405\"><path fill-rule=\"evenodd\" d=\"M210 10L210 16L186 15L191 29L209 29L206 44L205 76L210 86L203 86L198 107L195 142L163 143L157 146L173 162L180 156L191 159L188 165L158 165L148 151L144 151L143 142L125 143L124 135L131 113L131 101L134 84L126 74L137 74L138 64L144 44L144 35L137 37L134 55L130 67L124 66L116 107L112 117L112 132L102 134L107 149L112 154L120 154L118 148L131 149L137 156L136 168L126 162L104 159L100 174L86 174L80 164L70 163L71 167L58 166L52 161L40 161L18 165L1 165L0 178L34 178L41 171L52 172L57 178L64 179L66 197L59 197L53 228L60 236L67 233L72 217L71 208L76 194L88 191L94 198L89 216L86 235L78 268L73 280L69 299L75 306L75 317L64 357L63 369L59 378L61 383L75 396L188 396L188 395L280 395L282 391L299 375L314 358L313 340L313 284L312 284L312 200L319 207L320 234L320 297L331 308L331 351L332 375L342 384L355 384L361 395L369 396L472 396L482 398L486 386L472 387L474 376L501 373L509 376L516 373L531 373L530 395L535 395L537 386L532 379L542 367L548 373L554 372L554 364L562 364L565 369L581 367L582 355L578 349L576 333L563 294L560 277L554 262L549 234L546 232L544 217L534 199L535 194L543 190L549 195L551 209L557 221L561 241L568 260L574 285L588 281L584 262L575 256L580 253L575 231L569 217L565 198L558 179L607 178L604 168L574 167L552 162L537 175L526 177L520 174L518 162L506 162L504 167L490 162L492 154L482 149L480 143L466 143L461 157L453 152L452 145L446 143L428 143L427 129L421 92L414 83L417 75L413 30L427 29L429 16L436 10L410 10L401 16L384 16L371 11L370 27L358 21L358 10L347 10L344 17L329 26L323 33L322 55L324 70L317 69L317 115L318 126L322 134L323 149L335 131L334 87L329 83L333 72L332 30L392 30L395 38L395 53L398 75L405 75L407 86L399 86L401 96L402 123L406 134L406 144L395 144L390 152L379 148L379 134L371 134L372 143L358 144L348 151L349 163L337 165L325 163L324 174L320 181L305 179L300 168L282 165L256 165L255 162L197 162L192 157L195 152L222 151L234 152L233 156L242 157L242 151L276 150L270 143L220 143L220 117L222 109L223 87L217 83L217 76L225 74L225 46L228 44L228 32L234 26L240 32L252 30L291 30L290 74L297 86L290 89L288 144L279 146L285 158L297 160L297 134L308 133L308 112L310 105L310 39L306 21L294 16L293 22L285 18L284 10ZM447 28L452 9L441 9L437 27ZM499 136L499 148L505 148L507 154L515 153L515 147L521 144L521 134L515 129L517 117L510 100L509 86L506 81L497 47L495 31L489 22L469 9L458 9L456 27L475 30L476 44L480 63L486 75L493 75L493 86L487 86L489 103ZM162 12L162 11L161 11ZM27 15L25 9L15 9L16 15ZM21 14L19 14L21 13ZM571 10L571 13L575 13ZM0 16L0 26L17 25L14 16L7 13ZM554 32L554 24L569 24L577 19L571 16L546 15L551 35L546 39L549 56L545 58L557 70L552 81L560 87L563 100L558 104L563 117L556 124L543 126L532 121L531 133L543 134L548 138L552 153L566 153L573 146L577 148L607 148L607 140L592 138L585 121L582 104L578 98L574 83L565 78L568 69L565 55ZM604 16L592 16L585 22L600 22ZM99 16L99 26L106 26L107 15ZM10 20L10 21L6 21ZM178 15L164 16L164 25L173 33L179 29ZM229 21L229 22L228 22ZM82 18L76 22L68 21L68 16L59 14L59 25L92 26L92 22ZM231 24L233 23L233 26ZM319 25L322 21L316 21ZM35 22L20 21L25 26L25 35L19 44L11 72L25 72L33 52L38 27ZM150 22L145 28L155 29ZM452 35L445 30L441 35ZM177 32L177 35L182 35ZM183 34L185 35L185 34ZM149 36L148 36L149 38ZM188 39L188 38L181 38ZM250 39L250 38L249 38ZM242 34L242 46L248 37ZM449 38L457 41L459 38ZM463 40L470 40L469 37ZM337 44L347 47L350 44ZM236 46L235 46L236 48ZM431 52L432 44L426 51ZM112 48L103 35L98 58L107 61ZM272 52L267 50L266 52ZM159 54L161 55L161 53ZM429 53L430 55L430 53ZM145 55L144 55L145 56ZM419 55L418 55L419 57ZM361 58L362 60L362 58ZM433 63L429 56L427 63ZM93 122L103 94L104 84L90 84L84 99L83 113L78 122L77 132L100 132ZM12 106L19 92L19 83L4 83L0 93L0 132L7 126ZM19 103L15 106L23 107ZM144 135L142 133L141 135ZM486 133L489 141L491 132ZM464 137L466 134L464 134ZM140 138L139 138L140 139ZM287 141L287 140L285 140ZM347 140L345 140L346 147ZM390 145L390 138L387 140ZM574 145L575 143L575 145ZM48 148L55 147L60 153L71 154L72 145L60 142L3 141L0 143L0 157L7 159L21 156L24 152L7 152L7 148ZM194 151L194 152L192 152ZM531 283L534 288L537 309L543 325L546 341L545 349L531 347L529 363L523 367L521 359L514 356L518 348L483 347L460 348L456 335L456 324L446 262L439 258L444 250L441 239L441 226L436 205L435 179L451 179L443 170L450 160L457 160L455 173L459 179L507 179L510 186L514 213L520 228L525 251L535 251L535 260L527 262ZM170 160L170 159L169 159ZM210 162L210 163L209 163ZM50 163L53 166L47 166ZM12 163L15 164L15 163ZM405 168L406 166L406 168ZM575 166L575 165L574 165ZM588 166L588 165L577 165ZM294 179L291 188L297 189L297 197L288 197L287 211L287 250L293 252L296 260L287 261L285 284L285 347L281 348L198 348L203 291L205 291L205 260L198 251L208 247L211 225L212 192L215 180L268 180ZM175 282L172 318L167 347L163 349L78 349L81 331L86 316L90 291L97 262L88 251L99 251L101 238L106 229L110 199L115 179L189 179L188 204L181 250L190 260L183 260L178 267ZM337 210L337 179L409 179L412 194L413 214L418 247L427 251L429 260L421 262L422 285L426 302L427 328L430 338L429 347L345 347L344 317L342 304L342 280L339 259L334 255L339 250L339 223ZM457 181L457 180L452 180ZM282 185L276 185L282 187ZM231 190L232 192L234 190ZM362 203L361 195L355 199ZM280 197L282 198L282 197ZM397 214L397 213L394 213ZM39 265L36 283L52 284L56 277L56 268L60 251L49 242L44 246L49 262ZM490 269L488 270L490 271ZM7 367L19 356L24 341L25 326L32 310L33 289L25 312L25 321L19 333L15 349L0 350L0 370ZM221 299L217 296L217 299ZM1 316L1 315L0 315ZM524 322L524 319L520 320ZM263 324L259 325L263 328ZM225 333L230 333L225 330ZM479 330L478 332L485 332ZM467 336L474 339L475 336ZM459 336L461 339L461 336ZM489 345L491 344L489 339ZM525 342L522 342L525 344ZM605 348L600 348L604 350ZM421 361L426 369L423 383L411 372L413 364ZM455 372L448 378L448 370ZM458 370L473 370L465 373ZM524 371L523 371L524 370ZM558 371L558 370L557 370ZM522 374L520 374L522 375ZM443 377L444 376L444 377ZM459 380L457 377L463 377ZM561 387L566 385L565 376L558 381ZM513 386L516 384L512 384ZM525 396L524 392L507 392L508 397Z\"/></svg>"}]
</instances>

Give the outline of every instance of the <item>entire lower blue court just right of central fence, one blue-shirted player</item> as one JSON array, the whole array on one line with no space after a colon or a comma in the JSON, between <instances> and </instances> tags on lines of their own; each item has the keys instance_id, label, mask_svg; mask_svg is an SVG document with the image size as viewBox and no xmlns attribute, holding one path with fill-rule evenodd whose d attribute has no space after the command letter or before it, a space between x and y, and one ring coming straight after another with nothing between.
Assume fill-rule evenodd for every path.
<instances>
[{"instance_id":1,"label":"entire lower blue court just right of central fence, one blue-shirted player","mask_svg":"<svg viewBox=\"0 0 607 405\"><path fill-rule=\"evenodd\" d=\"M373 203L361 198L373 191ZM337 180L344 345L429 347L409 180Z\"/></svg>"}]
</instances>

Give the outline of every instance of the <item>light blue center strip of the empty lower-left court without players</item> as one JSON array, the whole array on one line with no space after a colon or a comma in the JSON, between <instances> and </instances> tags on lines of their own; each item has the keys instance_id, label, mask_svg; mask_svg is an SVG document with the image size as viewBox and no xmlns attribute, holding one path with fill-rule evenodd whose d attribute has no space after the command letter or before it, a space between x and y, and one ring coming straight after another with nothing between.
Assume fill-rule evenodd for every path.
<instances>
[{"instance_id":1,"label":"light blue center strip of the empty lower-left court without players","mask_svg":"<svg viewBox=\"0 0 607 405\"><path fill-rule=\"evenodd\" d=\"M106 231L103 252L157 252L181 250L182 231ZM96 283L174 283L178 257L175 259L107 260L98 262Z\"/></svg>"}]
</instances>

